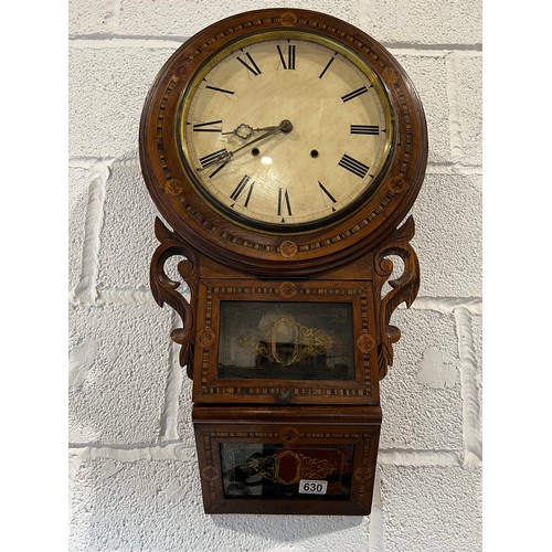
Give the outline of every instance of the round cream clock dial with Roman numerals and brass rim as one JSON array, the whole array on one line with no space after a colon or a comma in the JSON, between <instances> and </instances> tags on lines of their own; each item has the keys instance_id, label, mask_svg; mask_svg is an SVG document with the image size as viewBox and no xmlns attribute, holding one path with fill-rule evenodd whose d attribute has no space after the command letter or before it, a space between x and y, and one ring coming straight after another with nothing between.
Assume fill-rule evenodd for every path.
<instances>
[{"instance_id":1,"label":"round cream clock dial with Roman numerals and brass rim","mask_svg":"<svg viewBox=\"0 0 552 552\"><path fill-rule=\"evenodd\" d=\"M192 78L179 112L181 158L232 220L308 232L378 188L393 144L385 91L355 54L300 32L253 35Z\"/></svg>"}]
</instances>

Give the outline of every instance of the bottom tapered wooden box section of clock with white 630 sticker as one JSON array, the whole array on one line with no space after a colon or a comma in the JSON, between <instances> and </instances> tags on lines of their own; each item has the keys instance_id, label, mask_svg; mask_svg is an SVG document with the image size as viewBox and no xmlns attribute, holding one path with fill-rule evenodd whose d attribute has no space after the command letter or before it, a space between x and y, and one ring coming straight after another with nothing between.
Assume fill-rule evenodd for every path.
<instances>
[{"instance_id":1,"label":"bottom tapered wooden box section of clock with white 630 sticker","mask_svg":"<svg viewBox=\"0 0 552 552\"><path fill-rule=\"evenodd\" d=\"M370 513L379 406L198 405L206 513Z\"/></svg>"}]
</instances>

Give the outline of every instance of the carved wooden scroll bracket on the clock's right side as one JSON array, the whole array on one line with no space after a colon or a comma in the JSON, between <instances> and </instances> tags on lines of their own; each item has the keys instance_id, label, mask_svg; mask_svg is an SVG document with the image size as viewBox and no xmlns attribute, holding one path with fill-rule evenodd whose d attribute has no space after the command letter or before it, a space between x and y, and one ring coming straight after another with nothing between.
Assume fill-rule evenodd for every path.
<instances>
[{"instance_id":1,"label":"carved wooden scroll bracket on the clock's right side","mask_svg":"<svg viewBox=\"0 0 552 552\"><path fill-rule=\"evenodd\" d=\"M420 289L420 265L417 255L410 241L414 236L414 217L411 215L404 224L396 229L390 241L381 246L374 255L374 294L381 296L383 286L388 283L391 290L376 300L376 320L380 326L381 343L378 350L380 380L385 378L388 367L393 364L393 343L401 338L401 330L390 325L391 315L401 302L412 305ZM404 263L402 274L392 280L393 261L390 255L401 257ZM389 280L389 282L388 282Z\"/></svg>"}]
</instances>

